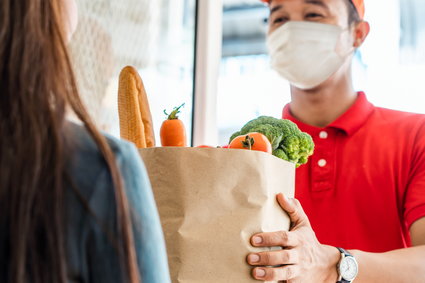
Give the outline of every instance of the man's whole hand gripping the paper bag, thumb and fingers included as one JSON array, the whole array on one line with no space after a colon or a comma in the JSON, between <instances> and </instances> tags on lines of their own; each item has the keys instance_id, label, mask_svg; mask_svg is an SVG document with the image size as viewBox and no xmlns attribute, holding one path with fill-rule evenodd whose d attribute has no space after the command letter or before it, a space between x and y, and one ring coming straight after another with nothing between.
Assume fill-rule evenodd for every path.
<instances>
[{"instance_id":1,"label":"man's whole hand gripping the paper bag, thumb and fingers included","mask_svg":"<svg viewBox=\"0 0 425 283\"><path fill-rule=\"evenodd\" d=\"M291 230L260 233L251 238L255 247L282 247L282 250L249 254L247 261L257 266L252 275L257 280L290 282L337 281L336 265L340 253L334 247L321 245L310 221L296 199L282 194L277 201L291 219ZM277 267L268 267L277 266Z\"/></svg>"}]
</instances>

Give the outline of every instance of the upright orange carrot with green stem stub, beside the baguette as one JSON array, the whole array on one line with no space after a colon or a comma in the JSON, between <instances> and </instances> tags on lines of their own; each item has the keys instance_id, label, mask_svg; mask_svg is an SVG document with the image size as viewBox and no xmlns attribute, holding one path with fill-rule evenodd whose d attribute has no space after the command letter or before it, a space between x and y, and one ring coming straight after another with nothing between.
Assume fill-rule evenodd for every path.
<instances>
[{"instance_id":1,"label":"upright orange carrot with green stem stub, beside the baguette","mask_svg":"<svg viewBox=\"0 0 425 283\"><path fill-rule=\"evenodd\" d=\"M164 110L168 118L161 125L160 136L162 146L187 146L186 129L178 117L180 109L183 106L184 103L179 107L174 107L170 114Z\"/></svg>"}]
</instances>

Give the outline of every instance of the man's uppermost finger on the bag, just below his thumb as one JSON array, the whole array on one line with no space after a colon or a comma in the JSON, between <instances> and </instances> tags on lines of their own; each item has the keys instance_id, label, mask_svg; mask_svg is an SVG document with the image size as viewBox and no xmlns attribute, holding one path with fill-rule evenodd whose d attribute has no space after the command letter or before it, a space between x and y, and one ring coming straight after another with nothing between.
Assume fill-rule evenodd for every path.
<instances>
[{"instance_id":1,"label":"man's uppermost finger on the bag, just below his thumb","mask_svg":"<svg viewBox=\"0 0 425 283\"><path fill-rule=\"evenodd\" d=\"M294 232L278 231L255 234L251 238L254 247L296 247L298 237Z\"/></svg>"}]
</instances>

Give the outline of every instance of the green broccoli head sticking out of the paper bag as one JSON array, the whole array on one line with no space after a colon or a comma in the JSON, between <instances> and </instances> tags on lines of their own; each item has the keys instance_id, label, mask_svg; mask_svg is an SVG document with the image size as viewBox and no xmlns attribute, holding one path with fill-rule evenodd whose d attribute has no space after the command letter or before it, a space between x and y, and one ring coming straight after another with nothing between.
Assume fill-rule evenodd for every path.
<instances>
[{"instance_id":1,"label":"green broccoli head sticking out of the paper bag","mask_svg":"<svg viewBox=\"0 0 425 283\"><path fill-rule=\"evenodd\" d=\"M249 121L242 129L230 137L258 132L267 137L272 145L273 155L300 166L307 163L313 154L314 143L311 136L301 132L296 124L285 119L261 116Z\"/></svg>"}]
</instances>

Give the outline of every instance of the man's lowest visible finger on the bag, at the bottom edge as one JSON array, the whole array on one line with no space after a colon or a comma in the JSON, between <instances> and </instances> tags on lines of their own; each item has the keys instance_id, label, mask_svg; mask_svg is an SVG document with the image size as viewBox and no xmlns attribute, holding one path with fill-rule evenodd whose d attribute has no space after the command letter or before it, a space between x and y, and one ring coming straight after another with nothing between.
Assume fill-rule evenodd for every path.
<instances>
[{"instance_id":1,"label":"man's lowest visible finger on the bag, at the bottom edge","mask_svg":"<svg viewBox=\"0 0 425 283\"><path fill-rule=\"evenodd\" d=\"M261 281L291 280L299 277L298 265L287 265L276 268L256 267L252 270L252 276Z\"/></svg>"}]
</instances>

